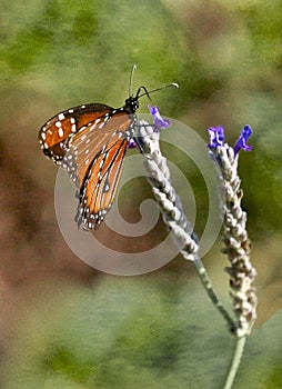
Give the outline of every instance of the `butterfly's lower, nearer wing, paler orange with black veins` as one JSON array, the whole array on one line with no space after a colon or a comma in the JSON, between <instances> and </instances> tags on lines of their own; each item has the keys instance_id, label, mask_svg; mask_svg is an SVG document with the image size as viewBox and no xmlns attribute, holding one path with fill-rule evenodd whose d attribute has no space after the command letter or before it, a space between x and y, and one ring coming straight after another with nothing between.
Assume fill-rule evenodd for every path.
<instances>
[{"instance_id":1,"label":"butterfly's lower, nearer wing, paler orange with black veins","mask_svg":"<svg viewBox=\"0 0 282 389\"><path fill-rule=\"evenodd\" d=\"M80 216L94 229L111 208L134 116L120 109L97 118L70 137L62 167L80 188Z\"/></svg>"}]
</instances>

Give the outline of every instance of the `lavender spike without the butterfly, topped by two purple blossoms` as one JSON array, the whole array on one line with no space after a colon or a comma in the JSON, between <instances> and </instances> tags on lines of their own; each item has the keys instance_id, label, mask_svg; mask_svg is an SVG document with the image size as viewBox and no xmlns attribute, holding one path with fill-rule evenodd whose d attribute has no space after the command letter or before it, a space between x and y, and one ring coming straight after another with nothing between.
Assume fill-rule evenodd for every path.
<instances>
[{"instance_id":1,"label":"lavender spike without the butterfly, topped by two purple blossoms","mask_svg":"<svg viewBox=\"0 0 282 389\"><path fill-rule=\"evenodd\" d=\"M243 191L241 179L238 174L238 152L251 150L246 144L252 130L245 126L234 148L223 144L223 129L220 127L209 129L210 153L218 163L222 174L222 184L225 191L225 205L223 207L223 252L231 263L225 270L230 275L231 296L234 312L238 317L234 335L238 338L251 332L256 319L256 292L253 281L256 271L251 263L251 242L246 231L246 212L242 209Z\"/></svg>"}]
</instances>

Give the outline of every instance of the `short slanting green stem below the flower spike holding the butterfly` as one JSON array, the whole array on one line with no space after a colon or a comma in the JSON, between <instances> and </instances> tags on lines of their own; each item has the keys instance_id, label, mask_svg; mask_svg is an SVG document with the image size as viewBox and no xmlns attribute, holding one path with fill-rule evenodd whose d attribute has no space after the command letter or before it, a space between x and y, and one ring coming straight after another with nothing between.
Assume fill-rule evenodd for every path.
<instances>
[{"instance_id":1,"label":"short slanting green stem below the flower spike holding the butterfly","mask_svg":"<svg viewBox=\"0 0 282 389\"><path fill-rule=\"evenodd\" d=\"M215 306L215 308L219 310L219 312L223 316L223 318L228 322L230 331L234 333L236 325L235 325L234 320L231 318L231 316L229 315L229 312L224 309L222 302L219 300L219 298L218 298L218 296L212 287L211 279L210 279L210 277L209 277L209 275L203 266L203 262L197 256L195 256L193 262L194 262L194 266L198 270L199 277L202 281L202 285L203 285L209 298L211 299L212 303Z\"/></svg>"}]
</instances>

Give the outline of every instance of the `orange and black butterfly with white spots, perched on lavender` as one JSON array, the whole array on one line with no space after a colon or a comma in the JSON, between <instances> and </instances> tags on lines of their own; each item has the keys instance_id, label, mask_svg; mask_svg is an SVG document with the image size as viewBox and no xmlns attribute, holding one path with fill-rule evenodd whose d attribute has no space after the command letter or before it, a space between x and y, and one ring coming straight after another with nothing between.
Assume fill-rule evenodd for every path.
<instances>
[{"instance_id":1,"label":"orange and black butterfly with white spots, perched on lavender","mask_svg":"<svg viewBox=\"0 0 282 389\"><path fill-rule=\"evenodd\" d=\"M133 70L134 67L131 81ZM135 96L130 91L124 106L118 109L101 103L70 108L40 129L43 153L66 169L79 188L77 221L84 229L98 228L113 203L125 151L134 139L140 97L150 98L149 93L168 86L150 92L140 87Z\"/></svg>"}]
</instances>

